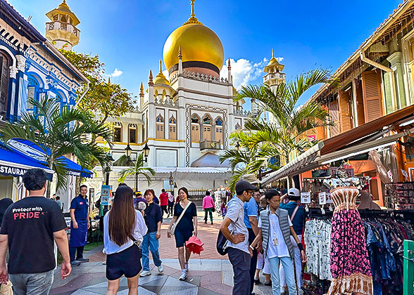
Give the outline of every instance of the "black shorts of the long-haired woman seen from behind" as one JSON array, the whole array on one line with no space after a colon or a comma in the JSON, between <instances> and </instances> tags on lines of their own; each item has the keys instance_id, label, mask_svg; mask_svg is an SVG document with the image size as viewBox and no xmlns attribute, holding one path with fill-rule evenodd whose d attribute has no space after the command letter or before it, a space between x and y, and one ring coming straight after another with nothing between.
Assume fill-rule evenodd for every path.
<instances>
[{"instance_id":1,"label":"black shorts of the long-haired woman seen from behind","mask_svg":"<svg viewBox=\"0 0 414 295\"><path fill-rule=\"evenodd\" d=\"M134 277L142 270L141 249L136 244L119 253L106 256L106 278L118 280L120 277Z\"/></svg>"}]
</instances>

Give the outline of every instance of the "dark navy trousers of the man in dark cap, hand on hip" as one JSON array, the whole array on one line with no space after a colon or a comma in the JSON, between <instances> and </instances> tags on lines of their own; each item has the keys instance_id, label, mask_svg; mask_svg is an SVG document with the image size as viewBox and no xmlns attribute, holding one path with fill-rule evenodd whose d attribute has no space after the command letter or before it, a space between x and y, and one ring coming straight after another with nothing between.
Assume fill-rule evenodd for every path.
<instances>
[{"instance_id":1,"label":"dark navy trousers of the man in dark cap, hand on hip","mask_svg":"<svg viewBox=\"0 0 414 295\"><path fill-rule=\"evenodd\" d=\"M250 295L250 254L228 247L230 263L233 266L233 295Z\"/></svg>"}]
</instances>

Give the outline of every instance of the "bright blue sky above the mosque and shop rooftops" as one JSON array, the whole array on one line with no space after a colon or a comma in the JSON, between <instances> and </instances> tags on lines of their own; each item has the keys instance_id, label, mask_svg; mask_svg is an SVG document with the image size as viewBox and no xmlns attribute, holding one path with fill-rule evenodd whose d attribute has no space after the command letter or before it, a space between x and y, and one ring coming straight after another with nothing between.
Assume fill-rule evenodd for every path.
<instances>
[{"instance_id":1,"label":"bright blue sky above the mosque and shop rooftops","mask_svg":"<svg viewBox=\"0 0 414 295\"><path fill-rule=\"evenodd\" d=\"M46 12L60 0L8 0L44 34ZM218 34L225 59L234 61L234 83L259 84L264 58L283 58L291 79L315 67L336 70L388 18L402 0L196 0L195 13ZM130 93L158 72L168 35L189 18L189 0L67 0L81 23L74 51L99 54L111 81ZM118 72L116 70L118 70ZM163 65L165 70L165 66ZM306 93L304 103L312 91Z\"/></svg>"}]
</instances>

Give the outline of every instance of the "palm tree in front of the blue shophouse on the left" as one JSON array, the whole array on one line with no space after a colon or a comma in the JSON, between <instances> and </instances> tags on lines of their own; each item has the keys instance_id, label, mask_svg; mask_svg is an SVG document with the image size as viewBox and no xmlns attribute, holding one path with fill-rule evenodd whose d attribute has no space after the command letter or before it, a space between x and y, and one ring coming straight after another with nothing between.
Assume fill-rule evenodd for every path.
<instances>
[{"instance_id":1,"label":"palm tree in front of the blue shophouse on the left","mask_svg":"<svg viewBox=\"0 0 414 295\"><path fill-rule=\"evenodd\" d=\"M101 136L108 142L112 132L104 124L97 123L91 114L75 108L63 108L55 98L32 99L36 112L25 112L17 122L6 122L0 127L1 140L5 145L11 139L29 140L45 155L44 165L55 171L57 188L63 188L68 169L63 157L73 154L82 167L91 169L96 162L108 160L103 147L88 136ZM48 185L47 197L50 197Z\"/></svg>"}]
</instances>

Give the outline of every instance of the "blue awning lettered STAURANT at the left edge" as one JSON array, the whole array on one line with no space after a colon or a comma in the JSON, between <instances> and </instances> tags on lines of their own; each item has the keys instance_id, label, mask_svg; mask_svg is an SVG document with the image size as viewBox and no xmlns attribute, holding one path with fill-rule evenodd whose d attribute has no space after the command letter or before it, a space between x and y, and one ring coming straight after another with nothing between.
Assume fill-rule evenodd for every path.
<instances>
[{"instance_id":1,"label":"blue awning lettered STAURANT at the left edge","mask_svg":"<svg viewBox=\"0 0 414 295\"><path fill-rule=\"evenodd\" d=\"M49 180L54 176L54 171L37 163L30 157L0 147L0 174L11 176L23 176L28 169L40 168L46 171Z\"/></svg>"}]
</instances>

